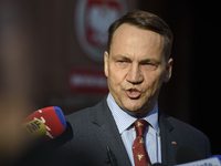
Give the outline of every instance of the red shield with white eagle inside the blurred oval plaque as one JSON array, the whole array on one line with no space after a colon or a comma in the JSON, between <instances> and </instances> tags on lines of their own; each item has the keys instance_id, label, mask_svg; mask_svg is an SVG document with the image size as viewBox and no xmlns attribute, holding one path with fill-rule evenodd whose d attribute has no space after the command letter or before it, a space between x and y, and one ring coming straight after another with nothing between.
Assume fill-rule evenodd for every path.
<instances>
[{"instance_id":1,"label":"red shield with white eagle inside the blurred oval plaque","mask_svg":"<svg viewBox=\"0 0 221 166\"><path fill-rule=\"evenodd\" d=\"M106 48L107 30L122 14L117 1L88 0L86 6L86 39L91 45Z\"/></svg>"}]
</instances>

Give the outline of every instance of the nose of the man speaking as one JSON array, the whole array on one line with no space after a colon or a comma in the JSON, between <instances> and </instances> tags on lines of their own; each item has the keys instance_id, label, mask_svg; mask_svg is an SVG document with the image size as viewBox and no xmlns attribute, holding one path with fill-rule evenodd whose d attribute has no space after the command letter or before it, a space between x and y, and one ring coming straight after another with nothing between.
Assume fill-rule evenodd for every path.
<instances>
[{"instance_id":1,"label":"nose of the man speaking","mask_svg":"<svg viewBox=\"0 0 221 166\"><path fill-rule=\"evenodd\" d=\"M141 73L138 64L130 65L127 76L126 76L126 80L131 84L139 84L144 81L143 73Z\"/></svg>"}]
</instances>

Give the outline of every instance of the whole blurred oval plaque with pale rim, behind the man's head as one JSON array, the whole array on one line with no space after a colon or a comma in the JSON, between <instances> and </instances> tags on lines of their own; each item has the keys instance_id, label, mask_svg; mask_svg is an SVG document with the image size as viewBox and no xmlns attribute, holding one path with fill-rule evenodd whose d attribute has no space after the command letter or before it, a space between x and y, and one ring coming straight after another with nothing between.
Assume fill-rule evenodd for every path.
<instances>
[{"instance_id":1,"label":"whole blurred oval plaque with pale rim, behind the man's head","mask_svg":"<svg viewBox=\"0 0 221 166\"><path fill-rule=\"evenodd\" d=\"M126 0L78 0L75 10L77 41L95 62L104 62L110 23L127 12Z\"/></svg>"}]
</instances>

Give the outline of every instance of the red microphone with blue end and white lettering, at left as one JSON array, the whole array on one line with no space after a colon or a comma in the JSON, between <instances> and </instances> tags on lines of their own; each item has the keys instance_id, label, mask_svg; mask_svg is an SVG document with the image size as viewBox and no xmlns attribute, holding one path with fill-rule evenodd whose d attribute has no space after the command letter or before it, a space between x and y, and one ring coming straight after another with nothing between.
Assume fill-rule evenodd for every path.
<instances>
[{"instance_id":1,"label":"red microphone with blue end and white lettering, at left","mask_svg":"<svg viewBox=\"0 0 221 166\"><path fill-rule=\"evenodd\" d=\"M62 110L57 106L44 107L35 111L29 115L23 122L30 123L32 121L41 122L45 125L46 132L44 139L50 141L60 136L66 129L66 121ZM33 128L40 126L39 123L32 124Z\"/></svg>"}]
</instances>

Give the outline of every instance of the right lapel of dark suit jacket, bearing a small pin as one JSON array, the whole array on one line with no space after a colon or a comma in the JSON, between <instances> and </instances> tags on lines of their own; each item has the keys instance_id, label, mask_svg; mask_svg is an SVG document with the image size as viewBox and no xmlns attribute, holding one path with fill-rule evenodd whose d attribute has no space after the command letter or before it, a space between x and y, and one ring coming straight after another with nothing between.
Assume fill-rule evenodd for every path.
<instances>
[{"instance_id":1,"label":"right lapel of dark suit jacket, bearing a small pin","mask_svg":"<svg viewBox=\"0 0 221 166\"><path fill-rule=\"evenodd\" d=\"M176 164L176 153L179 147L179 139L172 134L172 125L166 115L159 113L159 127L161 139L161 162L167 166Z\"/></svg>"}]
</instances>

